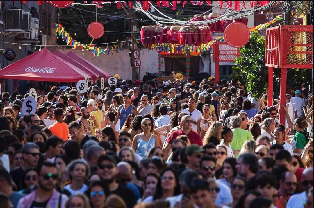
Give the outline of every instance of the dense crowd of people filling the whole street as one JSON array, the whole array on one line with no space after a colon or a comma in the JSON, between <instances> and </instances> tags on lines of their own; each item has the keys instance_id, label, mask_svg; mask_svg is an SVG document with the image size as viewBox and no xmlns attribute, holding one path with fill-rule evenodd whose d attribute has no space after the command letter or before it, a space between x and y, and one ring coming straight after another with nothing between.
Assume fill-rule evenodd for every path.
<instances>
[{"instance_id":1,"label":"dense crowd of people filling the whole street","mask_svg":"<svg viewBox=\"0 0 314 208\"><path fill-rule=\"evenodd\" d=\"M73 86L2 92L1 208L313 207L306 89L268 106L266 93L214 78Z\"/></svg>"}]
</instances>

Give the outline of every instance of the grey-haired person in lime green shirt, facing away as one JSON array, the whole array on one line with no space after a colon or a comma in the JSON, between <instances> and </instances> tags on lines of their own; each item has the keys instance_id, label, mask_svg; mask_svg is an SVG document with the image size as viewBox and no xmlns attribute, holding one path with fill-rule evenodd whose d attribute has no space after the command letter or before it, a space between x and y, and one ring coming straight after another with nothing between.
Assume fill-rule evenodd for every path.
<instances>
[{"instance_id":1,"label":"grey-haired person in lime green shirt, facing away","mask_svg":"<svg viewBox=\"0 0 314 208\"><path fill-rule=\"evenodd\" d=\"M235 157L238 156L244 142L246 140L253 140L252 134L251 132L247 131L247 130L243 130L241 129L241 122L242 119L239 116L233 116L230 119L230 123L233 127L232 132L233 132L233 138L232 141L230 143L230 146L233 150L233 153L235 155Z\"/></svg>"}]
</instances>

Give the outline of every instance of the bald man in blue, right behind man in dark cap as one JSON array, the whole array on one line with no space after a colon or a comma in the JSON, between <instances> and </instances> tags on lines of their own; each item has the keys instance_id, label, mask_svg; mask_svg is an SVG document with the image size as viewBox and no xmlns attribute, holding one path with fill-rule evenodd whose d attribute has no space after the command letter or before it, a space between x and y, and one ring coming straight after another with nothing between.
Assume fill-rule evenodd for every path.
<instances>
[{"instance_id":1,"label":"bald man in blue, right behind man in dark cap","mask_svg":"<svg viewBox=\"0 0 314 208\"><path fill-rule=\"evenodd\" d=\"M120 185L124 185L127 188L131 189L136 197L136 200L138 200L141 196L138 187L130 182L133 176L133 169L131 165L127 162L122 161L117 164L117 168L119 168L119 173L117 174L116 178L117 182Z\"/></svg>"}]
</instances>

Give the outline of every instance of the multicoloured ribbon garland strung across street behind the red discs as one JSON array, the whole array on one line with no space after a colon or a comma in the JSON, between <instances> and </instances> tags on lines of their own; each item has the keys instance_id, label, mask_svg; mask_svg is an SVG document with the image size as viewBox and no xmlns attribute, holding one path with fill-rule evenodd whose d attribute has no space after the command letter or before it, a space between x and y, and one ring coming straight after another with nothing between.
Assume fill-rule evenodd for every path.
<instances>
[{"instance_id":1,"label":"multicoloured ribbon garland strung across street behind the red discs","mask_svg":"<svg viewBox=\"0 0 314 208\"><path fill-rule=\"evenodd\" d=\"M263 29L266 29L276 22L283 20L283 15L277 15L272 20L269 20L266 23L259 24L257 26L254 26L250 28L250 32L253 31L260 31ZM75 40L70 33L67 32L67 30L62 26L62 24L59 22L56 25L57 29L57 37L62 38L62 40L68 45L72 46L72 49L85 49L86 51L91 51L94 56L100 56L100 54L115 54L119 51L122 51L123 49L129 49L131 42L134 41L140 45L142 45L139 41L139 38L136 36L128 37L127 40L129 41L121 41L117 42L113 45L108 45L105 47L99 47L96 45L90 45L90 44L84 44L77 40ZM179 55L185 55L188 53L191 55L198 55L203 52L208 52L215 42L222 42L224 41L224 37L218 37L215 40L212 40L208 43L202 43L201 45L180 45L180 44L171 44L171 43L159 43L159 44L151 44L151 45L143 45L145 48L149 50L156 50L159 53L163 54L179 54Z\"/></svg>"}]
</instances>

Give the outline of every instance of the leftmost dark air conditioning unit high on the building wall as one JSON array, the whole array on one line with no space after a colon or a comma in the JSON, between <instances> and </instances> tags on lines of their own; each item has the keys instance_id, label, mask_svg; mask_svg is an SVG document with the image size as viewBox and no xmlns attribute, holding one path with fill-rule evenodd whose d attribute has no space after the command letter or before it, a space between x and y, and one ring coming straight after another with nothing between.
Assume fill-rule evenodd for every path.
<instances>
[{"instance_id":1,"label":"leftmost dark air conditioning unit high on the building wall","mask_svg":"<svg viewBox=\"0 0 314 208\"><path fill-rule=\"evenodd\" d=\"M6 9L5 10L5 27L6 29L22 29L22 9Z\"/></svg>"}]
</instances>

